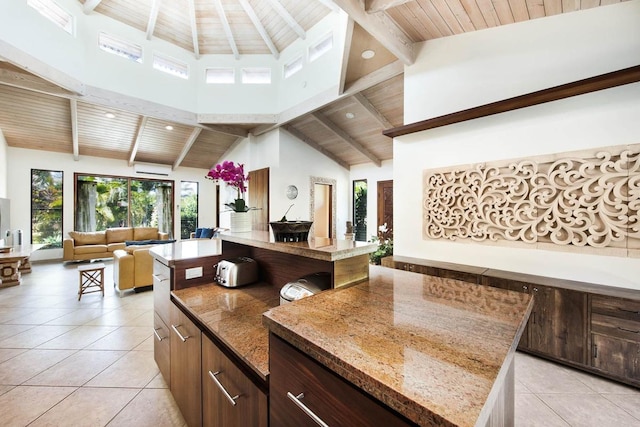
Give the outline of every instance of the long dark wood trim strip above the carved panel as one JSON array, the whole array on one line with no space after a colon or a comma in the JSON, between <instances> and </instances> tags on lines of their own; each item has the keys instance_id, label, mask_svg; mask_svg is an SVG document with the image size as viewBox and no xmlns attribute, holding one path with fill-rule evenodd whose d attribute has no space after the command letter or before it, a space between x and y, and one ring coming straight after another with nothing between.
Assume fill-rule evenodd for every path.
<instances>
[{"instance_id":1,"label":"long dark wood trim strip above the carved panel","mask_svg":"<svg viewBox=\"0 0 640 427\"><path fill-rule=\"evenodd\" d=\"M572 96L584 95L586 93L610 89L612 87L636 83L638 81L640 81L640 65L613 71L611 73L600 74L595 77L578 80L549 89L531 92L514 98L503 99L502 101L492 102L479 107L456 111L455 113L410 123L393 129L387 129L383 131L382 134L390 138L396 138L398 136L409 135L423 130L478 119L480 117L486 117L493 114L505 113L507 111L531 107L533 105L557 101Z\"/></svg>"}]
</instances>

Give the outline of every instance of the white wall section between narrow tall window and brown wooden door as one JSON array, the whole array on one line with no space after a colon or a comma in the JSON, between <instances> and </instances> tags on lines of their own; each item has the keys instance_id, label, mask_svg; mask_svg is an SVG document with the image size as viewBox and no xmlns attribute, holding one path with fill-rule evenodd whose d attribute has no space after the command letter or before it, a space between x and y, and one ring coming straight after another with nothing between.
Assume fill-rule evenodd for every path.
<instances>
[{"instance_id":1,"label":"white wall section between narrow tall window and brown wooden door","mask_svg":"<svg viewBox=\"0 0 640 427\"><path fill-rule=\"evenodd\" d=\"M351 182L360 179L367 180L367 240L369 240L378 234L378 181L393 179L393 160L383 161L380 167L372 163L352 166ZM351 193L352 191L350 191L349 206L353 206L353 194ZM353 220L352 209L350 209L349 215L349 219ZM394 221L396 221L395 218ZM388 224L388 227L395 228L395 225Z\"/></svg>"}]
</instances>

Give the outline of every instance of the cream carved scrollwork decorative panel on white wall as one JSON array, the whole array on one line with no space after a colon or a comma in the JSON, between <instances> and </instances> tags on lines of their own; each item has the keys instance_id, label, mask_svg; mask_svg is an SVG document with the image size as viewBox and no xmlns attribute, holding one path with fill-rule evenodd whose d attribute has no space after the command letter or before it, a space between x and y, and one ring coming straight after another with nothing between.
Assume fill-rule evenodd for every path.
<instances>
[{"instance_id":1,"label":"cream carved scrollwork decorative panel on white wall","mask_svg":"<svg viewBox=\"0 0 640 427\"><path fill-rule=\"evenodd\" d=\"M423 236L640 256L640 145L425 170Z\"/></svg>"}]
</instances>

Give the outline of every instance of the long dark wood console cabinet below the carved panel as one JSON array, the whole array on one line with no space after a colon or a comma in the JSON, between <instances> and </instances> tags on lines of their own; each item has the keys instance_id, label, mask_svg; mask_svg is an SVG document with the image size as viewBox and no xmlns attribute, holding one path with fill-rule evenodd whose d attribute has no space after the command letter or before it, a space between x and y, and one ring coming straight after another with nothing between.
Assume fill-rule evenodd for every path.
<instances>
[{"instance_id":1,"label":"long dark wood console cabinet below the carved panel","mask_svg":"<svg viewBox=\"0 0 640 427\"><path fill-rule=\"evenodd\" d=\"M635 291L404 257L387 257L382 264L530 293L534 307L519 350L640 387L640 295L635 299ZM460 274L448 273L455 270Z\"/></svg>"}]
</instances>

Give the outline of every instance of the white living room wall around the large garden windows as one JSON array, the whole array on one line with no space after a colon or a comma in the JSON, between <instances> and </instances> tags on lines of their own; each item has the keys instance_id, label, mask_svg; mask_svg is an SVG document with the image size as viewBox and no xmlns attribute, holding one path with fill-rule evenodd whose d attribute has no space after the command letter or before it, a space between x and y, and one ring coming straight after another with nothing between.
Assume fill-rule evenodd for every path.
<instances>
[{"instance_id":1,"label":"white living room wall around the large garden windows","mask_svg":"<svg viewBox=\"0 0 640 427\"><path fill-rule=\"evenodd\" d=\"M74 161L70 154L27 150L9 147L10 161L7 165L7 197L11 199L11 228L23 232L23 241L31 241L31 169L61 170L64 172L63 188L63 237L74 230L74 173L118 175L140 178L169 179L175 181L174 236L180 236L180 181L197 181L200 187L198 223L213 225L215 221L216 196L212 181L204 178L206 171L194 168L178 168L168 177L135 174L133 168L124 160L104 159L81 156ZM1 170L1 169L0 169ZM40 250L34 253L33 260L62 258L61 249Z\"/></svg>"}]
</instances>

